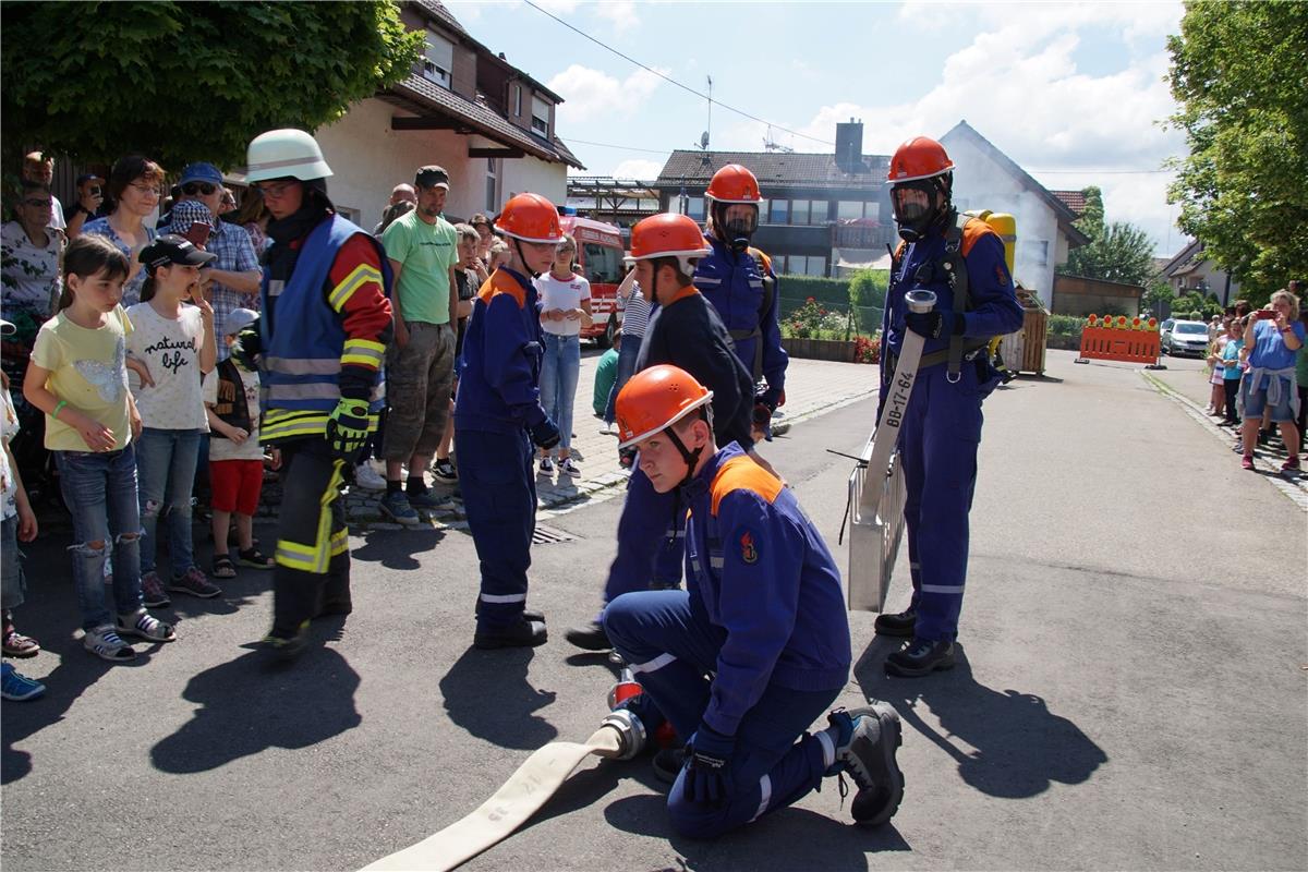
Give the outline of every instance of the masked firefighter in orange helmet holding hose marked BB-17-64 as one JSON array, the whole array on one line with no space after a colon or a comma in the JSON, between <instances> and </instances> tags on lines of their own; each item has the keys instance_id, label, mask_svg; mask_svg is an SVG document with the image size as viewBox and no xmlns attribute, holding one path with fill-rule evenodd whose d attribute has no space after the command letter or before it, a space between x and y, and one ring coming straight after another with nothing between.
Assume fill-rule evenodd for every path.
<instances>
[{"instance_id":1,"label":"masked firefighter in orange helmet holding hose marked BB-17-64","mask_svg":"<svg viewBox=\"0 0 1308 872\"><path fill-rule=\"evenodd\" d=\"M879 634L912 637L886 660L886 671L899 676L954 665L981 400L1001 380L986 346L993 336L1022 327L1003 242L985 221L959 216L951 203L952 170L944 148L918 136L895 152L887 175L904 244L893 258L882 324L883 396L905 331L926 339L899 441L913 599L906 611L876 618ZM934 310L908 311L904 294L916 289L935 292Z\"/></svg>"}]
</instances>

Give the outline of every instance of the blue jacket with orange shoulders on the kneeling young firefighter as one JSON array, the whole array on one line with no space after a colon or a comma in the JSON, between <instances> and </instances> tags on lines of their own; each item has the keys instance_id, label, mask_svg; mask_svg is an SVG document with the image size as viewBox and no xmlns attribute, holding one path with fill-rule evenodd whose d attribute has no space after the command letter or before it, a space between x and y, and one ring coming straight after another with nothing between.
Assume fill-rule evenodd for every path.
<instances>
[{"instance_id":1,"label":"blue jacket with orange shoulders on the kneeling young firefighter","mask_svg":"<svg viewBox=\"0 0 1308 872\"><path fill-rule=\"evenodd\" d=\"M726 630L704 723L735 735L770 682L845 686L850 645L840 570L794 493L729 444L683 495L691 507L687 590Z\"/></svg>"}]
</instances>

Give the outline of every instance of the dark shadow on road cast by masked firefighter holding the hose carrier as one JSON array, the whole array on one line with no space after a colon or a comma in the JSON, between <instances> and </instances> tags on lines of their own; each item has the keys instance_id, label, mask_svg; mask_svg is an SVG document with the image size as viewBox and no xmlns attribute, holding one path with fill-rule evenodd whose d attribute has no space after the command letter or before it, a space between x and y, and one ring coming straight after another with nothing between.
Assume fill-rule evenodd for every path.
<instances>
[{"instance_id":1,"label":"dark shadow on road cast by masked firefighter holding the hose carrier","mask_svg":"<svg viewBox=\"0 0 1308 872\"><path fill-rule=\"evenodd\" d=\"M859 658L854 676L863 694L895 706L903 723L957 761L963 780L982 794L1036 796L1052 782L1088 780L1108 762L1080 727L1050 711L1042 698L977 682L961 645L955 646L952 669L923 679L886 676L886 655L893 648L893 641L876 639ZM939 719L939 731L922 718L921 703Z\"/></svg>"}]
</instances>

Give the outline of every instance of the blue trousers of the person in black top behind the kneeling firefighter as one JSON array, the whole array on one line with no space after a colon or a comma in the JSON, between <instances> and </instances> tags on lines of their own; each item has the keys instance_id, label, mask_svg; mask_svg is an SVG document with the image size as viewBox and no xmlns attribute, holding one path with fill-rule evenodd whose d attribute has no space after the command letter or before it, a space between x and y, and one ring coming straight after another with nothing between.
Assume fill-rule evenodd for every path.
<instances>
[{"instance_id":1,"label":"blue trousers of the person in black top behind the kneeling firefighter","mask_svg":"<svg viewBox=\"0 0 1308 872\"><path fill-rule=\"evenodd\" d=\"M676 587L681 583L684 561L685 506L679 503L676 492L654 490L636 455L617 522L617 557L608 567L604 601L632 591Z\"/></svg>"}]
</instances>

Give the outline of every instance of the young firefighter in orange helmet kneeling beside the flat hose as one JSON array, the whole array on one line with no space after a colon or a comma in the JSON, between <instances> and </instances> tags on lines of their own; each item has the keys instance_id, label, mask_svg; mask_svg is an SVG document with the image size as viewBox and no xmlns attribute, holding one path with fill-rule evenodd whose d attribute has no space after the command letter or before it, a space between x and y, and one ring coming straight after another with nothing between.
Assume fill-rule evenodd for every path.
<instances>
[{"instance_id":1,"label":"young firefighter in orange helmet kneeling beside the flat hose","mask_svg":"<svg viewBox=\"0 0 1308 872\"><path fill-rule=\"evenodd\" d=\"M884 824L904 794L893 707L831 711L807 732L849 679L840 570L791 490L739 444L714 452L712 401L675 366L637 373L617 396L623 444L640 448L657 492L680 490L691 510L687 590L624 594L604 611L645 690L624 705L646 735L666 716L689 737L672 826L719 835L844 773L858 784L855 822Z\"/></svg>"}]
</instances>

